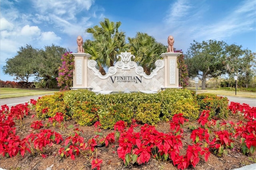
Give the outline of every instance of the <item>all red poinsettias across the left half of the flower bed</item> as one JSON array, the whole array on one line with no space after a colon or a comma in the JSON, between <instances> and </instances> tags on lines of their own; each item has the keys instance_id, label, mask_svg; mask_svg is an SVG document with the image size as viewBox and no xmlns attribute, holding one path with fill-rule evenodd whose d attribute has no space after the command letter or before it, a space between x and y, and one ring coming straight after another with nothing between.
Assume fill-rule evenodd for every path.
<instances>
[{"instance_id":1,"label":"all red poinsettias across the left half of the flower bed","mask_svg":"<svg viewBox=\"0 0 256 170\"><path fill-rule=\"evenodd\" d=\"M36 103L32 100L32 103ZM33 104L32 104L33 105ZM84 138L81 136L82 131L76 128L74 130L74 135L68 136L63 140L62 135L58 132L55 132L50 129L41 129L42 127L47 127L43 124L43 121L38 120L32 122L30 127L35 131L30 130L30 134L25 138L20 139L16 135L16 128L14 120L18 119L23 121L25 116L28 116L29 105L16 105L9 109L7 105L2 105L0 109L0 154L6 157L13 157L17 154L22 156L26 152L34 154L40 154L43 158L47 157L47 149L52 147L55 144L62 144L63 147L60 147L59 154L61 157L70 156L71 159L75 159L75 155L82 153L86 158L90 159L92 164L92 169L100 169L100 164L102 164L101 159L97 156L97 142L96 139L99 135L94 136L89 139L87 142L84 141ZM32 115L32 118L34 115ZM52 118L49 118L48 121L51 123L63 123L63 114L56 113ZM96 125L95 125L96 127ZM100 123L98 122L98 127ZM41 130L40 130L41 129ZM100 129L97 128L98 132ZM39 131L38 131L39 130ZM114 132L108 134L106 137L101 139L105 146L108 146L110 142L115 141ZM62 142L64 141L64 142ZM95 156L96 153L96 156Z\"/></svg>"}]
</instances>

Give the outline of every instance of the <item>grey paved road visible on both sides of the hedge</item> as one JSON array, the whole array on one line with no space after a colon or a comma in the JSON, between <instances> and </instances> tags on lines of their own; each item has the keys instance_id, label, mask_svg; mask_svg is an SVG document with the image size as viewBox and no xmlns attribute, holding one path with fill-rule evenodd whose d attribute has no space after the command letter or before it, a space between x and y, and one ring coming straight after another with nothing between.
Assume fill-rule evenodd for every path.
<instances>
[{"instance_id":1,"label":"grey paved road visible on both sides of the hedge","mask_svg":"<svg viewBox=\"0 0 256 170\"><path fill-rule=\"evenodd\" d=\"M0 99L0 106L2 105L8 105L9 107L18 105L20 103L25 103L30 101L30 99L37 100L38 97L41 97L42 95L37 96L28 96L28 97L16 97L16 98L10 98L10 99ZM244 97L230 97L230 96L224 96L227 97L229 102L237 102L237 103L246 103L250 105L250 107L256 107L256 99L252 98L244 98Z\"/></svg>"}]
</instances>

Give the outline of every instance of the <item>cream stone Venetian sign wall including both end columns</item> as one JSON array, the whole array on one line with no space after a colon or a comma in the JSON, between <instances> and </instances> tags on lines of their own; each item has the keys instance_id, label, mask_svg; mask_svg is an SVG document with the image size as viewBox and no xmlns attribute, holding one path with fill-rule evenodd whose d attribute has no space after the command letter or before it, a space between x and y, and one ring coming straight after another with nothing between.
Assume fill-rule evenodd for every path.
<instances>
[{"instance_id":1,"label":"cream stone Venetian sign wall including both end columns","mask_svg":"<svg viewBox=\"0 0 256 170\"><path fill-rule=\"evenodd\" d=\"M98 93L124 91L156 92L179 87L177 56L181 53L163 53L155 62L156 68L146 75L143 68L131 61L135 56L129 52L118 55L120 61L109 67L106 75L101 75L97 62L90 60L90 54L72 53L75 56L73 87L71 89L90 89Z\"/></svg>"}]
</instances>

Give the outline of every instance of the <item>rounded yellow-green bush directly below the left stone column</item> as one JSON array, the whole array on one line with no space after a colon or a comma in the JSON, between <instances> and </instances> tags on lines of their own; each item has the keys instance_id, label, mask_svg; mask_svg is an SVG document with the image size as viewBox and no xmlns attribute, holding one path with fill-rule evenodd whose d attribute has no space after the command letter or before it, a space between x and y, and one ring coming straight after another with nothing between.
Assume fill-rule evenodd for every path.
<instances>
[{"instance_id":1,"label":"rounded yellow-green bush directly below the left stone column","mask_svg":"<svg viewBox=\"0 0 256 170\"><path fill-rule=\"evenodd\" d=\"M80 126L90 126L94 124L97 120L98 107L92 105L90 102L77 102L74 105L74 113L72 118L76 120Z\"/></svg>"}]
</instances>

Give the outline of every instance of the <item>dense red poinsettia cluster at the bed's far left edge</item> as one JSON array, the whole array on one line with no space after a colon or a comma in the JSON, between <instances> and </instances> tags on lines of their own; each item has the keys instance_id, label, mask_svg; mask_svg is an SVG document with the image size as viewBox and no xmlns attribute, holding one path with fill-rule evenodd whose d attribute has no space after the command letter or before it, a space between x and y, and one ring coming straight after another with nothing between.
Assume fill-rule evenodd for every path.
<instances>
[{"instance_id":1,"label":"dense red poinsettia cluster at the bed's far left edge","mask_svg":"<svg viewBox=\"0 0 256 170\"><path fill-rule=\"evenodd\" d=\"M20 153L24 156L25 152L32 152L34 149L38 151L44 158L44 148L52 146L53 143L59 143L62 136L52 130L40 130L39 133L30 133L23 139L16 135L16 128L14 127L15 119L23 120L25 115L28 115L28 105L16 105L9 111L7 105L2 105L0 110L0 154L7 157L16 156ZM35 121L31 127L39 129L42 122Z\"/></svg>"}]
</instances>

